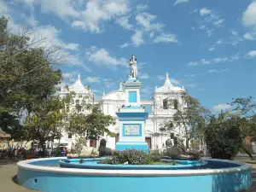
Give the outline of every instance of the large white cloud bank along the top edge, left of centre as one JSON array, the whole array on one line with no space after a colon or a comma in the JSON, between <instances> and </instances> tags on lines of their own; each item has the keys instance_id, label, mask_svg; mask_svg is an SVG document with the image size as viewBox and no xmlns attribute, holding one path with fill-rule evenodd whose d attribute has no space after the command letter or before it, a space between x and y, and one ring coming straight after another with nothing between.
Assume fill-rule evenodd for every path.
<instances>
[{"instance_id":1,"label":"large white cloud bank along the top edge, left of centre","mask_svg":"<svg viewBox=\"0 0 256 192\"><path fill-rule=\"evenodd\" d=\"M24 3L24 0L15 1ZM127 0L88 0L86 3L82 0L26 0L25 3L29 8L40 5L43 13L55 14L73 27L97 33L102 32L104 21L117 20L130 11ZM125 26L124 19L118 22Z\"/></svg>"}]
</instances>

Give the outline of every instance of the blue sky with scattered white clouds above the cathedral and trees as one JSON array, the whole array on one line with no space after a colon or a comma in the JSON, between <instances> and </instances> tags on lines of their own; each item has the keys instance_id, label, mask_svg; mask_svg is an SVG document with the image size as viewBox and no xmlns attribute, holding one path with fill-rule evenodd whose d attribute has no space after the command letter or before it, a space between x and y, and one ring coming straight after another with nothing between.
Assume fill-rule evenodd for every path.
<instances>
[{"instance_id":1,"label":"blue sky with scattered white clouds above the cathedral and trees","mask_svg":"<svg viewBox=\"0 0 256 192\"><path fill-rule=\"evenodd\" d=\"M2 0L0 15L12 32L29 25L45 46L61 45L65 82L81 73L97 97L128 78L131 55L143 99L166 72L213 111L256 95L256 1Z\"/></svg>"}]
</instances>

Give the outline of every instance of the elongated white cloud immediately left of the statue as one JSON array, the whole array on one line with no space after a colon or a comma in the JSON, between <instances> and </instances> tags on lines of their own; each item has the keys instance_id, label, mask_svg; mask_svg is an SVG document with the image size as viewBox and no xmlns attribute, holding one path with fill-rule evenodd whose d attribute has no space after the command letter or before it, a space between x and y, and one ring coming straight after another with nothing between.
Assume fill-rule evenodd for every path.
<instances>
[{"instance_id":1,"label":"elongated white cloud immediately left of the statue","mask_svg":"<svg viewBox=\"0 0 256 192\"><path fill-rule=\"evenodd\" d=\"M125 58L117 58L116 56L111 55L107 49L99 49L95 46L91 46L90 49L86 50L85 56L88 61L95 62L98 65L108 67L128 67L128 62Z\"/></svg>"}]
</instances>

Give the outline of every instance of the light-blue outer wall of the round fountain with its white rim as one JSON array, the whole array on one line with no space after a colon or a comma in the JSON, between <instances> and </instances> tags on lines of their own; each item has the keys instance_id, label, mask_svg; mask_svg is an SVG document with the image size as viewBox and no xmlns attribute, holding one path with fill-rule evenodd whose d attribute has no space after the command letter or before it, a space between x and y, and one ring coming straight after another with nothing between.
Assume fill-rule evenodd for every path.
<instances>
[{"instance_id":1,"label":"light-blue outer wall of the round fountain with its white rim","mask_svg":"<svg viewBox=\"0 0 256 192\"><path fill-rule=\"evenodd\" d=\"M18 162L17 181L42 192L236 192L252 184L251 166L206 160L229 167L197 170L117 170L55 167L65 158Z\"/></svg>"}]
</instances>

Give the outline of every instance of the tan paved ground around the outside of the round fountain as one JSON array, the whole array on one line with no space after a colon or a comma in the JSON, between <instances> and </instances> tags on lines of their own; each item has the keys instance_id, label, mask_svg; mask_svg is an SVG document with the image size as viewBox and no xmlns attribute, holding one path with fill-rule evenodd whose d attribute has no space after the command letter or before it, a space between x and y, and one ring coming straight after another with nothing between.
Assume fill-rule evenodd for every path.
<instances>
[{"instance_id":1,"label":"tan paved ground around the outside of the round fountain","mask_svg":"<svg viewBox=\"0 0 256 192\"><path fill-rule=\"evenodd\" d=\"M248 159L241 161L246 162ZM255 162L256 163L256 162ZM253 186L242 192L256 191L256 164L252 164ZM17 165L14 161L0 161L0 186L1 191L8 192L35 192L35 190L26 189L16 183Z\"/></svg>"}]
</instances>

